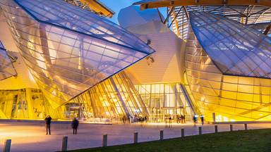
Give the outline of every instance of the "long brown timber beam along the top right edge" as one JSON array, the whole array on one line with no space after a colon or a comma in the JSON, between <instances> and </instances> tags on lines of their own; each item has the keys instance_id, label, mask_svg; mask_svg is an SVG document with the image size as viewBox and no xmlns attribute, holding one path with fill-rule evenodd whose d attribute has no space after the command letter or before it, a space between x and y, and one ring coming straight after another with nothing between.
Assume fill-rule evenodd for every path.
<instances>
[{"instance_id":1,"label":"long brown timber beam along the top right edge","mask_svg":"<svg viewBox=\"0 0 271 152\"><path fill-rule=\"evenodd\" d=\"M267 6L271 7L270 0L153 0L138 1L133 5L140 5L142 10L147 8L173 7L173 6L208 6L208 5L235 5L235 6Z\"/></svg>"}]
</instances>

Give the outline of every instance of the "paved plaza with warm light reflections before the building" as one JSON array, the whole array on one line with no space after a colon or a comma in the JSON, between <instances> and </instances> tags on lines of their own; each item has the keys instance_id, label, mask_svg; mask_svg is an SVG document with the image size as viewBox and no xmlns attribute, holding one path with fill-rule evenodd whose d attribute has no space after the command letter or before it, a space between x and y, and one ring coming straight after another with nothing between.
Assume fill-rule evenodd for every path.
<instances>
[{"instance_id":1,"label":"paved plaza with warm light reflections before the building","mask_svg":"<svg viewBox=\"0 0 271 152\"><path fill-rule=\"evenodd\" d=\"M60 151L62 137L68 136L68 150L90 148L102 145L102 134L108 134L108 145L129 144L133 142L133 132L138 132L138 141L159 139L159 130L164 130L164 139L181 137L181 128L185 135L198 134L198 127L188 123L173 124L172 128L164 124L147 123L126 125L90 125L80 124L78 134L73 135L70 124L52 124L52 135L46 135L40 122L0 122L1 150L4 139L12 139L11 151ZM214 125L203 125L203 134L215 132ZM248 124L248 129L271 128L271 123ZM219 132L229 131L229 124L218 125ZM234 130L244 129L243 124L234 124Z\"/></svg>"}]
</instances>

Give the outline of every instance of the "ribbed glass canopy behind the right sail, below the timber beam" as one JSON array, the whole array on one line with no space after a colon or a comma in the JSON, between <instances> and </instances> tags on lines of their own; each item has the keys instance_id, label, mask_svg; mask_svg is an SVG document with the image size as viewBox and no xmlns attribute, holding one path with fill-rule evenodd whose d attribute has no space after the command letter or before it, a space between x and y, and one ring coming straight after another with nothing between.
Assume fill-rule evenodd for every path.
<instances>
[{"instance_id":1,"label":"ribbed glass canopy behind the right sail, below the timber beam","mask_svg":"<svg viewBox=\"0 0 271 152\"><path fill-rule=\"evenodd\" d=\"M205 11L223 15L246 25L269 23L271 18L271 9L265 6L176 6L171 13L171 20L174 20L172 30L184 40L187 39L189 12L191 11ZM265 27L262 30L265 30Z\"/></svg>"}]
</instances>

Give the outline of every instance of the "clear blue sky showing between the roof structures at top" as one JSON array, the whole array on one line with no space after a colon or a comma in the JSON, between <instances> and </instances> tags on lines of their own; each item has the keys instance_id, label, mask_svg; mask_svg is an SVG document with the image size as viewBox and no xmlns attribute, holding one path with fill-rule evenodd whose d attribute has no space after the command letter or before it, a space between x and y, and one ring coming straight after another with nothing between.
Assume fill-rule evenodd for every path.
<instances>
[{"instance_id":1,"label":"clear blue sky showing between the roof structures at top","mask_svg":"<svg viewBox=\"0 0 271 152\"><path fill-rule=\"evenodd\" d=\"M116 14L114 15L112 20L114 23L117 23L117 17L118 13L121 10L121 8L126 8L127 6L131 6L134 2L140 1L140 0L100 0L103 4L111 8ZM159 8L159 11L165 16L167 13L167 8Z\"/></svg>"}]
</instances>

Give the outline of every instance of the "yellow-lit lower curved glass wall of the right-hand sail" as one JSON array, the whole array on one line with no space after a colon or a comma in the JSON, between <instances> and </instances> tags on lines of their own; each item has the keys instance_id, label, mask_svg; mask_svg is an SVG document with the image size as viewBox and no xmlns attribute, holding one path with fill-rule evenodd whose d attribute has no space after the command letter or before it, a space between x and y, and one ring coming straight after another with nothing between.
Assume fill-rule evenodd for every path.
<instances>
[{"instance_id":1,"label":"yellow-lit lower curved glass wall of the right-hand sail","mask_svg":"<svg viewBox=\"0 0 271 152\"><path fill-rule=\"evenodd\" d=\"M212 15L209 13L204 13L202 17L204 16L207 17L208 20L212 19ZM195 18L191 18L191 23ZM228 19L224 18L223 20ZM199 19L198 22L200 22ZM208 28L208 26L214 24L219 24L219 22L216 21L213 24L207 24L205 27ZM235 26L234 24L239 23L231 24ZM209 56L208 51L202 48L200 49L198 46L199 43L203 44L204 42L198 42L200 37L198 37L198 34L195 36L195 34L193 34L194 32L197 32L195 28L190 27L187 40L188 47L186 48L186 78L195 99L194 102L198 104L200 113L204 114L205 118L210 121L212 121L212 113L215 113L216 121L270 120L271 80L269 78L255 77L255 75L254 77L251 77L251 75L226 75L227 73L223 73L222 70L226 69L227 65L224 63L220 63L219 65L217 65L217 63L215 64L213 61L215 61L216 58ZM258 39L259 36L260 34L254 35L251 39ZM210 34L207 38L210 39L211 37L215 36ZM202 39L200 39L200 41L201 40ZM255 44L253 46L260 45L260 42L255 43L258 43L258 45ZM191 48L191 46L194 46L194 49ZM209 49L209 47L207 47L207 49ZM222 50L217 51L224 53ZM229 51L236 51L236 49L228 49L227 52ZM255 49L253 49L253 51L255 51ZM251 57L251 52L244 53L249 58ZM217 61L222 60L224 60L224 58L217 59ZM210 68L206 68L206 64L207 66L212 66L213 69L210 70ZM224 67L220 68L219 66ZM261 65L258 66L263 68Z\"/></svg>"}]
</instances>

